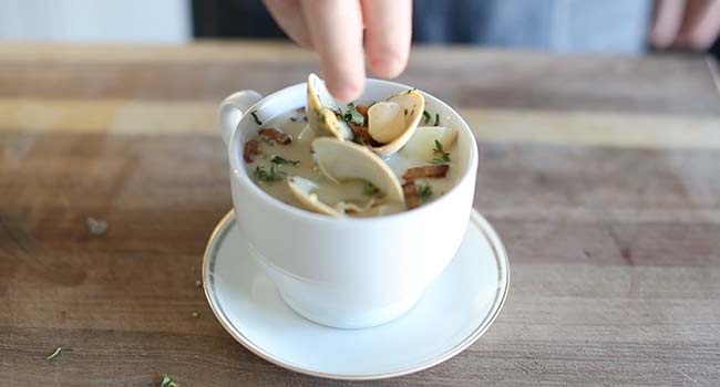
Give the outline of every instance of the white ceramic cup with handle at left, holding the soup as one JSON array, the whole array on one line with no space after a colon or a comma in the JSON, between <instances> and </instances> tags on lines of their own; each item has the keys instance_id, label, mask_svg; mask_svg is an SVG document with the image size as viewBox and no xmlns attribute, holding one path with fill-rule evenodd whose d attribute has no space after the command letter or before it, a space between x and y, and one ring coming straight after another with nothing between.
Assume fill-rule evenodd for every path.
<instances>
[{"instance_id":1,"label":"white ceramic cup with handle at left, holding the soup","mask_svg":"<svg viewBox=\"0 0 720 387\"><path fill-rule=\"evenodd\" d=\"M378 101L411 87L368 80L359 101ZM459 130L452 150L461 168L454 188L410 211L376 218L331 218L284 203L248 175L243 145L261 122L306 105L306 84L261 97L254 91L228 96L219 108L227 144L235 218L285 302L317 323L341 328L387 323L410 310L452 260L472 209L477 148L465 121L423 93L425 109ZM238 252L239 253L239 252Z\"/></svg>"}]
</instances>

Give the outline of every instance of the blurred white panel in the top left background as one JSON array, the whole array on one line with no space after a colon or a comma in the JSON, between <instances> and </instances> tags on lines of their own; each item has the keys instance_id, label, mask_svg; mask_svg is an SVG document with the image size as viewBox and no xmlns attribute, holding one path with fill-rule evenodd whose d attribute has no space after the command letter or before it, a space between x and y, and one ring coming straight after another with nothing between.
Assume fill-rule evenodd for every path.
<instances>
[{"instance_id":1,"label":"blurred white panel in the top left background","mask_svg":"<svg viewBox=\"0 0 720 387\"><path fill-rule=\"evenodd\" d=\"M0 0L0 40L182 43L191 0Z\"/></svg>"}]
</instances>

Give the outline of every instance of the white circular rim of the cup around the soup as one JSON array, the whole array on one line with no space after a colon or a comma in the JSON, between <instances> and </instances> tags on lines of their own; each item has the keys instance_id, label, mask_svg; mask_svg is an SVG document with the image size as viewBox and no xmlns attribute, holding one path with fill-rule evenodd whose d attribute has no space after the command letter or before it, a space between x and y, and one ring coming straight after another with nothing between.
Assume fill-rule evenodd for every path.
<instances>
[{"instance_id":1,"label":"white circular rim of the cup around the soup","mask_svg":"<svg viewBox=\"0 0 720 387\"><path fill-rule=\"evenodd\" d=\"M393 82L393 81L387 81L387 80L378 80L378 79L367 79L364 87L372 87L374 84L388 84L391 86L395 87L401 87L401 88L414 88L409 85L399 83L399 82ZM299 220L306 221L306 222L321 222L321 223L329 223L329 224L352 224L352 223L378 223L378 222L388 222L388 221L397 221L397 220L402 220L404 218L413 218L413 217L422 217L423 213L429 212L432 210L432 208L440 206L441 203L452 200L452 197L454 197L459 190L459 187L463 185L467 179L473 179L474 174L476 174L476 166L477 166L477 142L475 139L475 136L470 128L470 125L467 124L467 121L465 121L465 117L463 117L457 111L452 108L449 104L446 104L444 101L435 97L434 95L416 88L420 93L423 94L423 96L426 100L433 101L433 103L440 105L442 109L446 113L445 115L449 116L456 116L457 121L462 124L461 127L459 127L459 130L465 130L465 133L469 135L470 138L470 149L469 149L469 157L467 157L467 164L465 167L465 170L463 171L462 176L452 186L452 188L445 194L443 194L440 198L426 203L422 205L418 208L411 209L411 210L405 210L401 212L395 212L395 213L390 213L390 215L383 215L379 217L342 217L342 218L335 218L335 217L329 217L326 215L321 213L316 213L308 211L306 209L301 209L291 205L288 205L274 196L267 194L260 187L257 186L255 181L250 178L250 176L247 174L245 170L245 165L240 163L240 156L239 156L239 149L240 149L240 144L237 144L238 140L236 140L236 137L238 136L238 133L245 127L248 123L248 112L257 111L261 108L261 106L268 101L282 97L285 94L289 94L295 92L296 88L302 88L305 90L307 87L307 82L301 82L297 83L287 87L284 87L279 91L276 91L274 93L270 93L266 96L264 96L260 101L256 102L253 106L248 107L247 112L243 112L243 116L240 117L239 123L237 124L237 127L235 130L233 130L233 135L230 137L230 140L228 142L227 145L227 153L228 153L228 160L230 163L230 174L235 177L237 177L238 182L243 184L245 186L250 186L249 191L251 195L255 195L257 199L264 201L270 207L275 207L279 211L284 211L288 213L289 216L292 216ZM235 178L232 177L232 178ZM474 189L474 187L473 187ZM472 205L471 205L472 206Z\"/></svg>"}]
</instances>

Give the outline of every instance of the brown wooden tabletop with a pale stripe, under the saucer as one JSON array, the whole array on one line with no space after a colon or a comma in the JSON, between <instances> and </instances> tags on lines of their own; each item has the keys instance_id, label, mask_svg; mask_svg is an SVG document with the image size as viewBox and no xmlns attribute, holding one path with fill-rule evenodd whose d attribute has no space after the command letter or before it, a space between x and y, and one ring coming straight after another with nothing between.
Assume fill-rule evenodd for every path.
<instances>
[{"instance_id":1,"label":"brown wooden tabletop with a pale stripe, under the saucer","mask_svg":"<svg viewBox=\"0 0 720 387\"><path fill-rule=\"evenodd\" d=\"M512 283L455 358L295 374L218 324L200 260L230 208L215 108L301 82L279 44L0 44L0 385L720 385L720 94L702 57L421 49L400 81L480 142ZM713 72L716 76L713 77ZM88 218L107 222L89 232ZM53 362L58 346L72 348Z\"/></svg>"}]
</instances>

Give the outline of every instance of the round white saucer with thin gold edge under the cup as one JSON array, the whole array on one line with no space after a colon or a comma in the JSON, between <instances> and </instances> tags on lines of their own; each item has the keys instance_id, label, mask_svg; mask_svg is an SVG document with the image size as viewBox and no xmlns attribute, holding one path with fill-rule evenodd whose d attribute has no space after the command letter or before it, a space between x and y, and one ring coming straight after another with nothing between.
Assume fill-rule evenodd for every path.
<instances>
[{"instance_id":1,"label":"round white saucer with thin gold edge under the cup","mask_svg":"<svg viewBox=\"0 0 720 387\"><path fill-rule=\"evenodd\" d=\"M337 330L290 310L228 212L205 251L203 280L210 308L240 344L281 367L333 379L380 379L442 363L473 344L507 295L507 254L474 212L460 250L420 302L402 317L366 330Z\"/></svg>"}]
</instances>

